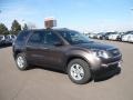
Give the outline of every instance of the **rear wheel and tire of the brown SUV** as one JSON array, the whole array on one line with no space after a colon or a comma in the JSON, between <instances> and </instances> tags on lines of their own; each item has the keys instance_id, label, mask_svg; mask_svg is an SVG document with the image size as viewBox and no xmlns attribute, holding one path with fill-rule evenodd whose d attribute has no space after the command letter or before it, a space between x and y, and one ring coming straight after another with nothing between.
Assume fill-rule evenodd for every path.
<instances>
[{"instance_id":1,"label":"rear wheel and tire of the brown SUV","mask_svg":"<svg viewBox=\"0 0 133 100\"><path fill-rule=\"evenodd\" d=\"M24 53L17 54L16 63L17 63L17 67L19 70L27 70L28 69L28 62L27 62Z\"/></svg>"}]
</instances>

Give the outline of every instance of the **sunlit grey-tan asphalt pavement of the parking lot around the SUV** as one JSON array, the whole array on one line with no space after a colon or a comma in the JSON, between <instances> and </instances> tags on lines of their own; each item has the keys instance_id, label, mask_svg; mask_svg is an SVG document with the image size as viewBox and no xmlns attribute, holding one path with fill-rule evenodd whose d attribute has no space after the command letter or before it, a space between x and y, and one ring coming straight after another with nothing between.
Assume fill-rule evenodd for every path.
<instances>
[{"instance_id":1,"label":"sunlit grey-tan asphalt pavement of the parking lot around the SUV","mask_svg":"<svg viewBox=\"0 0 133 100\"><path fill-rule=\"evenodd\" d=\"M74 84L66 74L42 68L17 69L12 48L0 49L0 100L133 100L133 44L95 40L120 48L121 73L105 80Z\"/></svg>"}]
</instances>

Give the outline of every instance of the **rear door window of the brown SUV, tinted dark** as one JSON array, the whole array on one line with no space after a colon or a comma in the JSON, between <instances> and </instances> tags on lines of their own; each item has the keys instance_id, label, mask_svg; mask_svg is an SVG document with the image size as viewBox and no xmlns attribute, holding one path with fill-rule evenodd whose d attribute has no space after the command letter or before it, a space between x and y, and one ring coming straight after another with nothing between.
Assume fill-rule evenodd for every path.
<instances>
[{"instance_id":1,"label":"rear door window of the brown SUV, tinted dark","mask_svg":"<svg viewBox=\"0 0 133 100\"><path fill-rule=\"evenodd\" d=\"M35 31L31 34L28 40L28 44L42 44L44 43L44 33L41 31Z\"/></svg>"}]
</instances>

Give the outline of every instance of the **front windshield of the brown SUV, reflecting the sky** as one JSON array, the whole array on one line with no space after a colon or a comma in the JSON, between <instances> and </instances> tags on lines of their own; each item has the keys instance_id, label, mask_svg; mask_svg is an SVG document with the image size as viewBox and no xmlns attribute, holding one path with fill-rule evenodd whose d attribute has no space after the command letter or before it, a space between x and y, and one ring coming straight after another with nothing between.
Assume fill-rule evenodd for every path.
<instances>
[{"instance_id":1,"label":"front windshield of the brown SUV, reflecting the sky","mask_svg":"<svg viewBox=\"0 0 133 100\"><path fill-rule=\"evenodd\" d=\"M71 44L92 42L88 37L76 31L60 31L59 33Z\"/></svg>"}]
</instances>

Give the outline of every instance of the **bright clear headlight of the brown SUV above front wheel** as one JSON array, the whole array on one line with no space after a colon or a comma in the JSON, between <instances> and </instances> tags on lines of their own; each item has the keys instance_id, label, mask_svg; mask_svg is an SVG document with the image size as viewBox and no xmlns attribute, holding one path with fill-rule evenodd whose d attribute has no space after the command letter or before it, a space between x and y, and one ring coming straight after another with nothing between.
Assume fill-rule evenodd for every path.
<instances>
[{"instance_id":1,"label":"bright clear headlight of the brown SUV above front wheel","mask_svg":"<svg viewBox=\"0 0 133 100\"><path fill-rule=\"evenodd\" d=\"M105 58L105 59L110 58L109 53L104 50L93 50L92 53L100 58Z\"/></svg>"}]
</instances>

